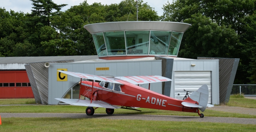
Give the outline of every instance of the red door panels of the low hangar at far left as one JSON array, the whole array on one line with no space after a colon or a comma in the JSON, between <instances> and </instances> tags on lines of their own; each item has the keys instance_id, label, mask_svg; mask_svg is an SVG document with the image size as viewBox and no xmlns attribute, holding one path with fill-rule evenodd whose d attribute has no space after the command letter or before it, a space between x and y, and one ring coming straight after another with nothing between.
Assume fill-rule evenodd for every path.
<instances>
[{"instance_id":1,"label":"red door panels of the low hangar at far left","mask_svg":"<svg viewBox=\"0 0 256 132\"><path fill-rule=\"evenodd\" d=\"M0 83L29 83L26 71L0 71ZM0 98L34 98L31 87L0 87Z\"/></svg>"}]
</instances>

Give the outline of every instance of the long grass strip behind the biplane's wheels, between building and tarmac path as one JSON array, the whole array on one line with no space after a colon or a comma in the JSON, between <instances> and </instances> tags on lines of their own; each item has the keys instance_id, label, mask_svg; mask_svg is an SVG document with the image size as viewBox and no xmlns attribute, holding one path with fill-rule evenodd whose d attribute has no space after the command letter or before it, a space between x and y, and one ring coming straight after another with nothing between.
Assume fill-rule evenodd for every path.
<instances>
[{"instance_id":1,"label":"long grass strip behind the biplane's wheels, between building and tarmac path","mask_svg":"<svg viewBox=\"0 0 256 132\"><path fill-rule=\"evenodd\" d=\"M86 107L72 105L25 105L25 106L0 106L0 113L85 113ZM95 113L106 114L105 108L98 108ZM156 110L139 108L141 112L115 109L114 114L142 114L142 115L177 115L177 116L198 116L197 113L177 112L167 110ZM236 117L236 118L256 118L254 115L205 110L207 117Z\"/></svg>"}]
</instances>

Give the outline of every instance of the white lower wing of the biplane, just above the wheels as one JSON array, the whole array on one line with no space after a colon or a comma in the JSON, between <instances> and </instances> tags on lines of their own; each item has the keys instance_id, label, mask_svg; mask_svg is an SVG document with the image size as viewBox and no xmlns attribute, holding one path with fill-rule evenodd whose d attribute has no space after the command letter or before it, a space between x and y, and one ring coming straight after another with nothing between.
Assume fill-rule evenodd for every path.
<instances>
[{"instance_id":1,"label":"white lower wing of the biplane, just above the wheels","mask_svg":"<svg viewBox=\"0 0 256 132\"><path fill-rule=\"evenodd\" d=\"M101 108L110 108L110 109L118 109L121 107L110 105L103 101L93 100L84 100L84 99L66 99L66 98L55 98L61 102L70 104L70 105L77 105L77 106L90 106L90 107L101 107Z\"/></svg>"}]
</instances>

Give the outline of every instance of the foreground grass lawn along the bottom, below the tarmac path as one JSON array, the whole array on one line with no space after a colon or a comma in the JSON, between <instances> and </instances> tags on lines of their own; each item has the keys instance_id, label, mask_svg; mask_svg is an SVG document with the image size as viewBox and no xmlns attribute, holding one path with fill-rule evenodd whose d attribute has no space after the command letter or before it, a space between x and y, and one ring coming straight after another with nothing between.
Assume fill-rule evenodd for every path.
<instances>
[{"instance_id":1,"label":"foreground grass lawn along the bottom, below the tarmac path","mask_svg":"<svg viewBox=\"0 0 256 132\"><path fill-rule=\"evenodd\" d=\"M2 125L0 125L1 132L255 132L255 128L256 125L233 123L71 118L3 118Z\"/></svg>"}]
</instances>

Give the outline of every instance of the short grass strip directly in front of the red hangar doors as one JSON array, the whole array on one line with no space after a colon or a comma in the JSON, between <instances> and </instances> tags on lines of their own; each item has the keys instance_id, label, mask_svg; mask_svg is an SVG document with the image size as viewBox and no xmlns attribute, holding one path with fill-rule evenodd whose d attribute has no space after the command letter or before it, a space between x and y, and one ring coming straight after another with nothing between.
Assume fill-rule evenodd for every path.
<instances>
[{"instance_id":1,"label":"short grass strip directly in front of the red hangar doors","mask_svg":"<svg viewBox=\"0 0 256 132\"><path fill-rule=\"evenodd\" d=\"M0 105L5 104L35 104L34 98L0 99Z\"/></svg>"}]
</instances>

